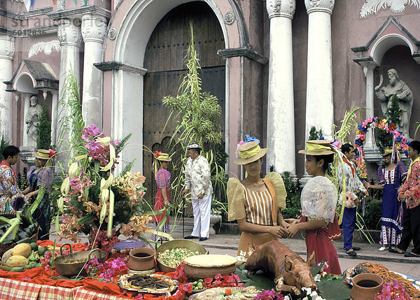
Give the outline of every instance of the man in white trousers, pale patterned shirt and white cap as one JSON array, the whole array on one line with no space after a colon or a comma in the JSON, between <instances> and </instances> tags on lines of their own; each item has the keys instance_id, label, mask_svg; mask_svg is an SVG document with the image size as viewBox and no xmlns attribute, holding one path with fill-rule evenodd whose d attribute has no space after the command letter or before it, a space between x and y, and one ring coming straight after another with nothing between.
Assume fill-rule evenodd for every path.
<instances>
[{"instance_id":1,"label":"man in white trousers, pale patterned shirt and white cap","mask_svg":"<svg viewBox=\"0 0 420 300\"><path fill-rule=\"evenodd\" d=\"M187 155L190 158L186 164L186 188L182 191L182 195L186 197L186 194L190 192L194 214L193 233L185 238L200 238L200 241L206 241L209 238L213 187L210 180L209 162L200 155L201 150L202 146L197 143L187 146Z\"/></svg>"}]
</instances>

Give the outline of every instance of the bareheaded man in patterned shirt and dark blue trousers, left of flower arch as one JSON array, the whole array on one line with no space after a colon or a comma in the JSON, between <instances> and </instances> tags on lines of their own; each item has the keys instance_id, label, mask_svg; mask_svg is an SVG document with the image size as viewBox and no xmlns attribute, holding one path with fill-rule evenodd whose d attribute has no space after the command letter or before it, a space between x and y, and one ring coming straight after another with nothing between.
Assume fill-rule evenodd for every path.
<instances>
[{"instance_id":1,"label":"bareheaded man in patterned shirt and dark blue trousers, left of flower arch","mask_svg":"<svg viewBox=\"0 0 420 300\"><path fill-rule=\"evenodd\" d=\"M353 164L354 147L347 143L342 145L341 152L343 157L343 168L337 169L337 178L339 185L343 184L343 174L346 180L346 200L344 201L344 213L342 220L344 250L347 255L356 256L358 247L353 247L353 231L356 225L356 210L360 204L359 194L365 193L369 196L365 186L358 178L356 168ZM343 202L343 195L339 194L339 204Z\"/></svg>"}]
</instances>

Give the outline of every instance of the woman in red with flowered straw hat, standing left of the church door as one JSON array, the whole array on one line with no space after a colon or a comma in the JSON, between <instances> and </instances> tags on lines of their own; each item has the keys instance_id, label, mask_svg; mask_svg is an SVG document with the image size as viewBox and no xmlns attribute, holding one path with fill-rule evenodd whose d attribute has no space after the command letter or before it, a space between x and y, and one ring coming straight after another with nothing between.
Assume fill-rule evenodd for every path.
<instances>
[{"instance_id":1,"label":"woman in red with flowered straw hat, standing left of the church door","mask_svg":"<svg viewBox=\"0 0 420 300\"><path fill-rule=\"evenodd\" d=\"M172 159L167 155L167 153L162 153L155 151L155 180L156 184L158 185L158 192L156 193L155 197L155 206L153 210L158 211L162 209L166 209L167 204L170 202L169 199L169 187L171 186L171 173L169 173L168 166L169 162ZM160 224L162 220L165 220L163 224ZM167 216L166 213L161 215L155 215L153 217L153 228L157 228L158 231L165 232L169 234L169 215ZM162 238L162 241L167 241L168 238L163 236L159 236L158 234L152 234L152 240L156 241L158 238Z\"/></svg>"}]
</instances>

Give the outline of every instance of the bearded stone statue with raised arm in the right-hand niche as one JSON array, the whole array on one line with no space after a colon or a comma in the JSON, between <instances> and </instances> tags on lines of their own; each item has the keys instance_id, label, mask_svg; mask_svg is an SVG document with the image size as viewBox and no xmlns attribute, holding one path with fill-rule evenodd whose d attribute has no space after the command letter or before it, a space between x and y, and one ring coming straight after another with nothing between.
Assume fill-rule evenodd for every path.
<instances>
[{"instance_id":1,"label":"bearded stone statue with raised arm in the right-hand niche","mask_svg":"<svg viewBox=\"0 0 420 300\"><path fill-rule=\"evenodd\" d=\"M386 108L391 106L391 97L396 95L400 103L400 108L403 111L401 123L397 124L397 126L402 134L404 134L406 138L409 138L408 130L413 106L413 93L407 84L400 80L400 77L395 69L388 70L389 83L386 87L381 87L382 80L384 80L384 78L381 76L379 85L374 88L376 96L381 101L382 113L385 115Z\"/></svg>"}]
</instances>

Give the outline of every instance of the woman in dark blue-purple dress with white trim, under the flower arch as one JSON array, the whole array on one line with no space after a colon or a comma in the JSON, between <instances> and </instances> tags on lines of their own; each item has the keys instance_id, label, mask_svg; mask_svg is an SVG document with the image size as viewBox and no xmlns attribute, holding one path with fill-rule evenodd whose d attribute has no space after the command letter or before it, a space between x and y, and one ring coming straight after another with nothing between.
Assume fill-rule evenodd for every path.
<instances>
[{"instance_id":1,"label":"woman in dark blue-purple dress with white trim, under the flower arch","mask_svg":"<svg viewBox=\"0 0 420 300\"><path fill-rule=\"evenodd\" d=\"M384 190L382 197L381 216L381 248L389 250L400 243L402 234L402 215L405 203L398 201L398 188L407 177L407 168L398 160L398 155L392 160L392 149L386 149L382 155L385 166L378 168L379 185L365 183L367 188Z\"/></svg>"}]
</instances>

